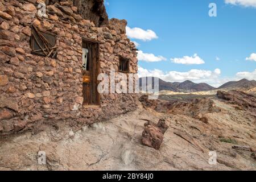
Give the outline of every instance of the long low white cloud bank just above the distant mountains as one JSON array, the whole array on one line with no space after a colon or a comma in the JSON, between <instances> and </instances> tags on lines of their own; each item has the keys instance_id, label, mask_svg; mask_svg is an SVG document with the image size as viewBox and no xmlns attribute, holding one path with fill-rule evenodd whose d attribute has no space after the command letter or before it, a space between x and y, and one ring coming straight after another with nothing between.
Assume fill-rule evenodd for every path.
<instances>
[{"instance_id":1,"label":"long low white cloud bank just above the distant mountains","mask_svg":"<svg viewBox=\"0 0 256 182\"><path fill-rule=\"evenodd\" d=\"M220 69L215 69L214 71L207 71L207 70L200 70L200 69L191 69L191 71L188 72L163 72L159 69L154 70L147 70L142 67L139 67L138 69L138 75L139 77L158 77L164 81L185 81L185 80L191 80L191 81L207 81L214 82L218 76L220 76L221 71Z\"/></svg>"}]
</instances>

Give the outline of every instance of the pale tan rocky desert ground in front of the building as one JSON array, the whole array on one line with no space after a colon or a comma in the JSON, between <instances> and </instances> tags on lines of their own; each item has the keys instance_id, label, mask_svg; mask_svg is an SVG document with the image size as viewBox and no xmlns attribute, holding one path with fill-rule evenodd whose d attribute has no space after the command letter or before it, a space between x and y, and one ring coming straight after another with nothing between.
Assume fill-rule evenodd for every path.
<instances>
[{"instance_id":1,"label":"pale tan rocky desert ground in front of the building","mask_svg":"<svg viewBox=\"0 0 256 182\"><path fill-rule=\"evenodd\" d=\"M243 91L190 94L190 100L189 94L142 96L136 111L77 131L57 122L2 136L0 170L256 170L255 88ZM169 128L160 150L144 146L144 123L162 118ZM38 164L39 151L46 165ZM210 151L216 164L208 163Z\"/></svg>"}]
</instances>

